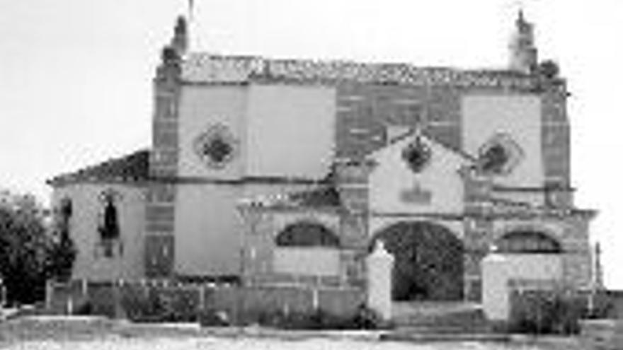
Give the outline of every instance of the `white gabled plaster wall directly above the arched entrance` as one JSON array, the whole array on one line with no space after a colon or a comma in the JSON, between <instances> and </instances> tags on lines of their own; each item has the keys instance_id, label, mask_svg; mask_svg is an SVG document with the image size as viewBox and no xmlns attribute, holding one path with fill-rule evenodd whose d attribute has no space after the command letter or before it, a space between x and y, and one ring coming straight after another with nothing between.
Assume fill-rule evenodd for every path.
<instances>
[{"instance_id":1,"label":"white gabled plaster wall directly above the arched entrance","mask_svg":"<svg viewBox=\"0 0 623 350\"><path fill-rule=\"evenodd\" d=\"M411 137L373 155L378 165L368 182L372 212L462 213L464 185L458 173L462 158L430 139L422 137L421 140L432 153L430 162L420 173L414 173L402 159L403 149L413 141ZM431 192L430 203L405 202L401 198L404 191L413 189L416 184Z\"/></svg>"}]
</instances>

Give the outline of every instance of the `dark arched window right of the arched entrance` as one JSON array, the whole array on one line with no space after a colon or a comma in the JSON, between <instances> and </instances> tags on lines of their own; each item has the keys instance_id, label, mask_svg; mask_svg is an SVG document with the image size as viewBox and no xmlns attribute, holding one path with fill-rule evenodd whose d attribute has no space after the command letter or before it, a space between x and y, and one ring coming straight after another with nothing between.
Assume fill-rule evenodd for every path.
<instances>
[{"instance_id":1,"label":"dark arched window right of the arched entrance","mask_svg":"<svg viewBox=\"0 0 623 350\"><path fill-rule=\"evenodd\" d=\"M560 243L539 231L512 231L503 235L496 244L496 252L558 254Z\"/></svg>"}]
</instances>

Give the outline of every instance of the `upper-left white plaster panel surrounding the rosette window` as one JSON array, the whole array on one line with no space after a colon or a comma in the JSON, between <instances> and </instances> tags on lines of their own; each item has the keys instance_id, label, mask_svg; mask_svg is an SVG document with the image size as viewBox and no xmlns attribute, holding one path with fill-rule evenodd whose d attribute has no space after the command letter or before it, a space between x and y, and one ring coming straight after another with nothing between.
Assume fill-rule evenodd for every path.
<instances>
[{"instance_id":1,"label":"upper-left white plaster panel surrounding the rosette window","mask_svg":"<svg viewBox=\"0 0 623 350\"><path fill-rule=\"evenodd\" d=\"M180 176L236 178L242 175L247 96L244 86L183 86L178 125ZM208 168L194 149L195 139L215 124L227 126L239 141L234 160L222 169Z\"/></svg>"}]
</instances>

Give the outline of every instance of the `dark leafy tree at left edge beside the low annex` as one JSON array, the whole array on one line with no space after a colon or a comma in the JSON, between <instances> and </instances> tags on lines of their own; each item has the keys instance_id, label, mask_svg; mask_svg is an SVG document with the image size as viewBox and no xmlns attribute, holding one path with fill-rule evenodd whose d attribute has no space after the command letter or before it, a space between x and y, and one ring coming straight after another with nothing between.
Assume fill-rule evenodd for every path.
<instances>
[{"instance_id":1,"label":"dark leafy tree at left edge beside the low annex","mask_svg":"<svg viewBox=\"0 0 623 350\"><path fill-rule=\"evenodd\" d=\"M0 274L10 303L45 298L45 281L67 278L76 255L67 226L45 224L46 210L29 194L0 192Z\"/></svg>"}]
</instances>

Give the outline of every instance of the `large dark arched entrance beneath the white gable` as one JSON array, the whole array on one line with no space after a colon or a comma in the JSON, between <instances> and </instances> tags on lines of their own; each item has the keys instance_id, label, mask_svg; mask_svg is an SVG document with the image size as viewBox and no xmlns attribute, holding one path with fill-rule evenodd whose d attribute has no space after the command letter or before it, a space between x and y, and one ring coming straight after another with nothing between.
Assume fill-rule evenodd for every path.
<instances>
[{"instance_id":1,"label":"large dark arched entrance beneath the white gable","mask_svg":"<svg viewBox=\"0 0 623 350\"><path fill-rule=\"evenodd\" d=\"M428 221L400 222L377 233L394 255L394 301L463 299L462 241L452 231Z\"/></svg>"}]
</instances>

